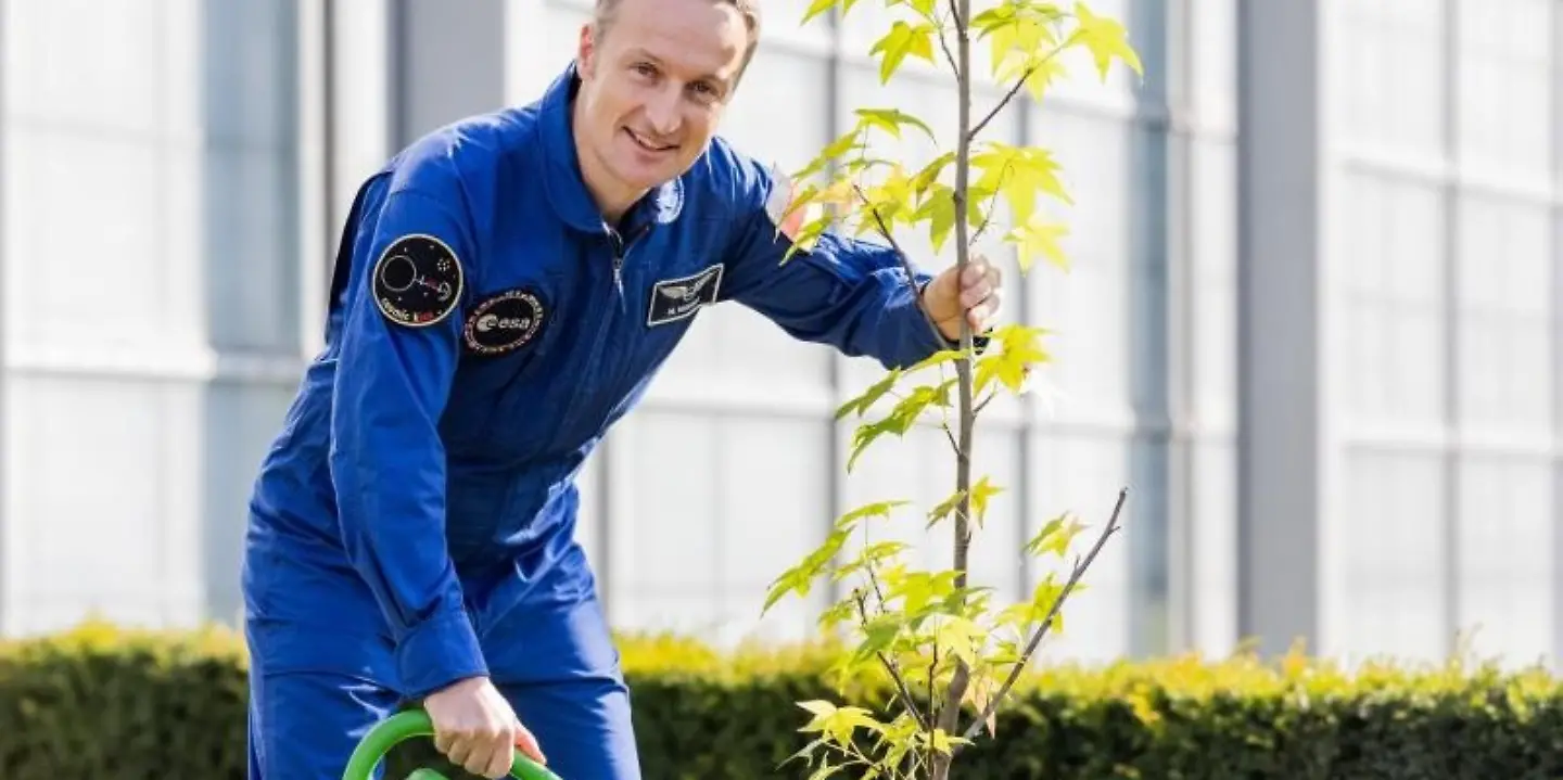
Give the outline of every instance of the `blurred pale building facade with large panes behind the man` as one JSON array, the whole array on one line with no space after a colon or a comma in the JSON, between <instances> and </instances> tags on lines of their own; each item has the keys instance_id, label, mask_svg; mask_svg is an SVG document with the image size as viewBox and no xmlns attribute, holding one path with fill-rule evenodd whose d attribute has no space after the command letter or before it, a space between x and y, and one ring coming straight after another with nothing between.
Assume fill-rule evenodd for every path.
<instances>
[{"instance_id":1,"label":"blurred pale building facade with large panes behind the man","mask_svg":"<svg viewBox=\"0 0 1563 780\"><path fill-rule=\"evenodd\" d=\"M764 0L730 138L796 167L857 106L950 125L946 77L878 84L878 3L799 28L805 5ZM588 9L0 0L0 632L238 616L247 489L353 189L535 98ZM1555 657L1560 3L1096 9L1146 80L1077 61L993 130L1055 148L1077 206L1074 270L1010 275L1010 314L1058 331L1058 397L986 417L1007 492L977 577L1022 596L1044 569L1021 542L1064 510L1103 522L1128 486L1055 653L1307 636L1430 658L1474 630ZM807 630L797 603L756 622L774 575L846 508L953 486L938 433L844 475L832 413L874 377L736 305L702 314L583 483L614 622Z\"/></svg>"}]
</instances>

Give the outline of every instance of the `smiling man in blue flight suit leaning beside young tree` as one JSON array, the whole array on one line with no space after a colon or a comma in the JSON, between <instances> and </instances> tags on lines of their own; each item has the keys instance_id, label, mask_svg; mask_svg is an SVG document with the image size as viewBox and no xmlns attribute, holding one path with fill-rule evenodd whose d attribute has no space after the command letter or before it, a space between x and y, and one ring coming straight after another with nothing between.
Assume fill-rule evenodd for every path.
<instances>
[{"instance_id":1,"label":"smiling man in blue flight suit leaning beside young tree","mask_svg":"<svg viewBox=\"0 0 1563 780\"><path fill-rule=\"evenodd\" d=\"M252 499L252 778L339 777L405 700L483 777L516 747L566 780L639 777L574 541L603 431L706 305L886 366L997 311L986 264L921 292L839 236L782 264L788 181L714 136L756 14L599 0L538 103L439 130L358 192L327 349Z\"/></svg>"}]
</instances>

